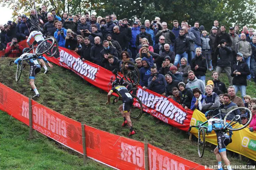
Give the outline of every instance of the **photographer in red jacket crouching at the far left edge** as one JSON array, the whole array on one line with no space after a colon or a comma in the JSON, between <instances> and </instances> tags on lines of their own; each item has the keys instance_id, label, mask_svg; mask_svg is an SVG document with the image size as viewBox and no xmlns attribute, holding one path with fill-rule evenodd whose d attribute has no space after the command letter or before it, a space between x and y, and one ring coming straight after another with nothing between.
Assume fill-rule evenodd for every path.
<instances>
[{"instance_id":1,"label":"photographer in red jacket crouching at the far left edge","mask_svg":"<svg viewBox=\"0 0 256 170\"><path fill-rule=\"evenodd\" d=\"M5 55L17 58L22 54L24 47L18 43L17 38L12 38L12 42L7 44Z\"/></svg>"}]
</instances>

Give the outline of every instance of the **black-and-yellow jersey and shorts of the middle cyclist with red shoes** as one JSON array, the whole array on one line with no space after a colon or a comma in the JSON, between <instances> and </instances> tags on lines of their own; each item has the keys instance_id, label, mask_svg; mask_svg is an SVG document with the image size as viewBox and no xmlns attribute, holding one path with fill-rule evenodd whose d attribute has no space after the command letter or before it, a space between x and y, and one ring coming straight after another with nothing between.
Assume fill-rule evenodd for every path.
<instances>
[{"instance_id":1,"label":"black-and-yellow jersey and shorts of the middle cyclist with red shoes","mask_svg":"<svg viewBox=\"0 0 256 170\"><path fill-rule=\"evenodd\" d=\"M133 98L125 86L117 85L110 91L115 92L123 100L124 113L130 112L130 106L133 103Z\"/></svg>"}]
</instances>

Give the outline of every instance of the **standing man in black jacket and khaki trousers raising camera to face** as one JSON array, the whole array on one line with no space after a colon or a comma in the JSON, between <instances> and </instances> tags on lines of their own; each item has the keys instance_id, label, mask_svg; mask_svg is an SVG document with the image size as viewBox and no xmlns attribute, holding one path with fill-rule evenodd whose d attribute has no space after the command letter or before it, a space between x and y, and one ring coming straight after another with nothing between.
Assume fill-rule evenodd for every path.
<instances>
[{"instance_id":1,"label":"standing man in black jacket and khaki trousers raising camera to face","mask_svg":"<svg viewBox=\"0 0 256 170\"><path fill-rule=\"evenodd\" d=\"M224 70L228 76L229 85L232 85L233 78L231 77L231 66L233 63L233 54L231 47L227 46L226 39L222 39L221 43L217 46L215 50L215 56L218 55L219 60L217 60L216 71L218 75Z\"/></svg>"}]
</instances>

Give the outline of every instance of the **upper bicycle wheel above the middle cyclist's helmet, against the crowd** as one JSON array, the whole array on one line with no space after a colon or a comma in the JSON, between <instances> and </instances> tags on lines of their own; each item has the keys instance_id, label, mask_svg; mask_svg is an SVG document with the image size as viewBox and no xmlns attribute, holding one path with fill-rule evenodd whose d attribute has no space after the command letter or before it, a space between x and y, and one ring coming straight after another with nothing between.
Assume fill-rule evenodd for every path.
<instances>
[{"instance_id":1,"label":"upper bicycle wheel above the middle cyclist's helmet, against the crowd","mask_svg":"<svg viewBox=\"0 0 256 170\"><path fill-rule=\"evenodd\" d=\"M128 69L126 69L125 65L128 64ZM137 66L131 62L131 61L125 61L123 63L122 72L124 74L125 79L132 84L133 86L136 86L140 81L140 73L137 68Z\"/></svg>"}]
</instances>

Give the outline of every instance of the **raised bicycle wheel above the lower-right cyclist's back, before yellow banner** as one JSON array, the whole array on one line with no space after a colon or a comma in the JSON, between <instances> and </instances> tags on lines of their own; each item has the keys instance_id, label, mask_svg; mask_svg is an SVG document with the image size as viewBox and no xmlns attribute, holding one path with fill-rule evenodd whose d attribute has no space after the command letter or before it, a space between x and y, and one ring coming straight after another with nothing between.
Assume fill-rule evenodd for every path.
<instances>
[{"instance_id":1,"label":"raised bicycle wheel above the lower-right cyclist's back, before yellow banner","mask_svg":"<svg viewBox=\"0 0 256 170\"><path fill-rule=\"evenodd\" d=\"M245 124L242 124L241 114L247 115L247 122ZM241 129L244 129L248 124L250 124L252 121L252 112L250 109L246 107L237 107L232 109L230 112L226 114L224 117L224 126L228 125L230 122L230 125L227 126L227 129L231 131L239 131Z\"/></svg>"}]
</instances>

